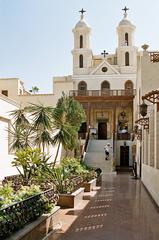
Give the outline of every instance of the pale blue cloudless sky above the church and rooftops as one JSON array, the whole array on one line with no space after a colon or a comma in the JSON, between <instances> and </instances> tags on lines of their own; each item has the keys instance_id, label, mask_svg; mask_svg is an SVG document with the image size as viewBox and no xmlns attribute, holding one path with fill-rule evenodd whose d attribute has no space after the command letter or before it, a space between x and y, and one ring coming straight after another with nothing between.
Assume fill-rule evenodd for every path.
<instances>
[{"instance_id":1,"label":"pale blue cloudless sky above the church and rooftops","mask_svg":"<svg viewBox=\"0 0 159 240\"><path fill-rule=\"evenodd\" d=\"M117 47L116 27L127 6L135 45L159 49L158 0L0 0L0 78L19 78L26 90L52 92L53 76L72 74L73 33L84 8L94 54Z\"/></svg>"}]
</instances>

